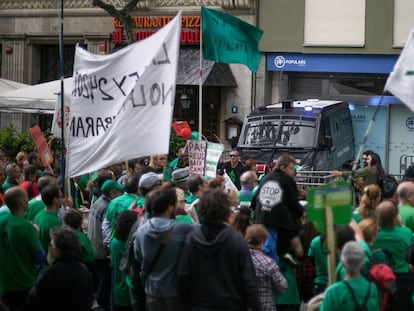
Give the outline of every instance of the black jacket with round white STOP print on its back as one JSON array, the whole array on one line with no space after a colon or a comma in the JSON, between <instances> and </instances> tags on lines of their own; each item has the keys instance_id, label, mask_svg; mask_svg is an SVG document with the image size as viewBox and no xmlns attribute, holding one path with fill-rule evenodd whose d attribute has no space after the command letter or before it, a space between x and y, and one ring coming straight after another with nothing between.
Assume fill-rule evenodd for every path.
<instances>
[{"instance_id":1,"label":"black jacket with round white STOP print on its back","mask_svg":"<svg viewBox=\"0 0 414 311\"><path fill-rule=\"evenodd\" d=\"M293 178L279 169L266 175L252 201L254 222L299 231L303 207Z\"/></svg>"}]
</instances>

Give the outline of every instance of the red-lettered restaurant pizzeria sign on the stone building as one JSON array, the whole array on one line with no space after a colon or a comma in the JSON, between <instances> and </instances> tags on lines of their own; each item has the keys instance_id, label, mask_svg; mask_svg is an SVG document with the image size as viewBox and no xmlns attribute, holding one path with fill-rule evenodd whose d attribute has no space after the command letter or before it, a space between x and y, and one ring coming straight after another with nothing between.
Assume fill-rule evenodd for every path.
<instances>
[{"instance_id":1,"label":"red-lettered restaurant pizzeria sign on the stone building","mask_svg":"<svg viewBox=\"0 0 414 311\"><path fill-rule=\"evenodd\" d=\"M168 24L173 16L138 16L133 17L134 41L143 40L158 29ZM122 23L118 19L113 20L115 30L112 32L112 42L120 44L125 41ZM200 16L183 16L181 18L181 44L200 44Z\"/></svg>"}]
</instances>

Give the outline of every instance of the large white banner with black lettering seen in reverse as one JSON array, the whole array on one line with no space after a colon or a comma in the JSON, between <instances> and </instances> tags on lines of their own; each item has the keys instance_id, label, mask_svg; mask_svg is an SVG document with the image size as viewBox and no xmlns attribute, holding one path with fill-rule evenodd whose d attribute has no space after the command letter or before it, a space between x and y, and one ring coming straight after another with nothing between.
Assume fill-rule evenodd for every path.
<instances>
[{"instance_id":1,"label":"large white banner with black lettering seen in reverse","mask_svg":"<svg viewBox=\"0 0 414 311\"><path fill-rule=\"evenodd\" d=\"M113 54L76 47L67 176L167 154L181 12L149 38Z\"/></svg>"}]
</instances>

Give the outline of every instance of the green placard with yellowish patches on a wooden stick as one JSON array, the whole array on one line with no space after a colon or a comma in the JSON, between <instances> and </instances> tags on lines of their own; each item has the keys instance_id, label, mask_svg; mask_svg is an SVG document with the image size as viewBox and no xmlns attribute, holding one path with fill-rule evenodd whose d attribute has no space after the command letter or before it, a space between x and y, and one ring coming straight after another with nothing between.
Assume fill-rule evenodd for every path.
<instances>
[{"instance_id":1,"label":"green placard with yellowish patches on a wooden stick","mask_svg":"<svg viewBox=\"0 0 414 311\"><path fill-rule=\"evenodd\" d=\"M351 184L346 181L336 181L308 190L307 217L315 223L316 228L326 232L325 208L332 207L333 223L348 224L352 214Z\"/></svg>"}]
</instances>

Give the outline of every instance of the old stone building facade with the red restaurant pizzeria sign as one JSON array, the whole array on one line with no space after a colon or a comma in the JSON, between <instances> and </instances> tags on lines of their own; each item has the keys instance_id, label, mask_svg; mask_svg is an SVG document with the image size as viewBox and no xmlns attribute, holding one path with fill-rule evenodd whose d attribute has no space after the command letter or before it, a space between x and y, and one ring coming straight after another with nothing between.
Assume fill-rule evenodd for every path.
<instances>
[{"instance_id":1,"label":"old stone building facade with the red restaurant pizzeria sign","mask_svg":"<svg viewBox=\"0 0 414 311\"><path fill-rule=\"evenodd\" d=\"M72 75L74 47L80 44L92 53L111 53L125 44L122 25L106 11L92 5L92 0L62 0L64 74ZM123 0L106 3L120 9ZM1 77L28 84L60 78L59 33L61 1L3 0L0 2ZM145 0L138 1L130 13L134 18L134 39L142 40L183 11L181 50L174 118L187 120L198 129L198 90L200 53L200 6L221 10L255 24L253 0ZM243 65L203 62L203 135L210 141L229 144L225 120L243 120L252 106L252 74ZM19 115L21 129L32 123L46 127L49 117ZM2 126L13 114L2 113ZM237 122L236 122L237 123Z\"/></svg>"}]
</instances>

